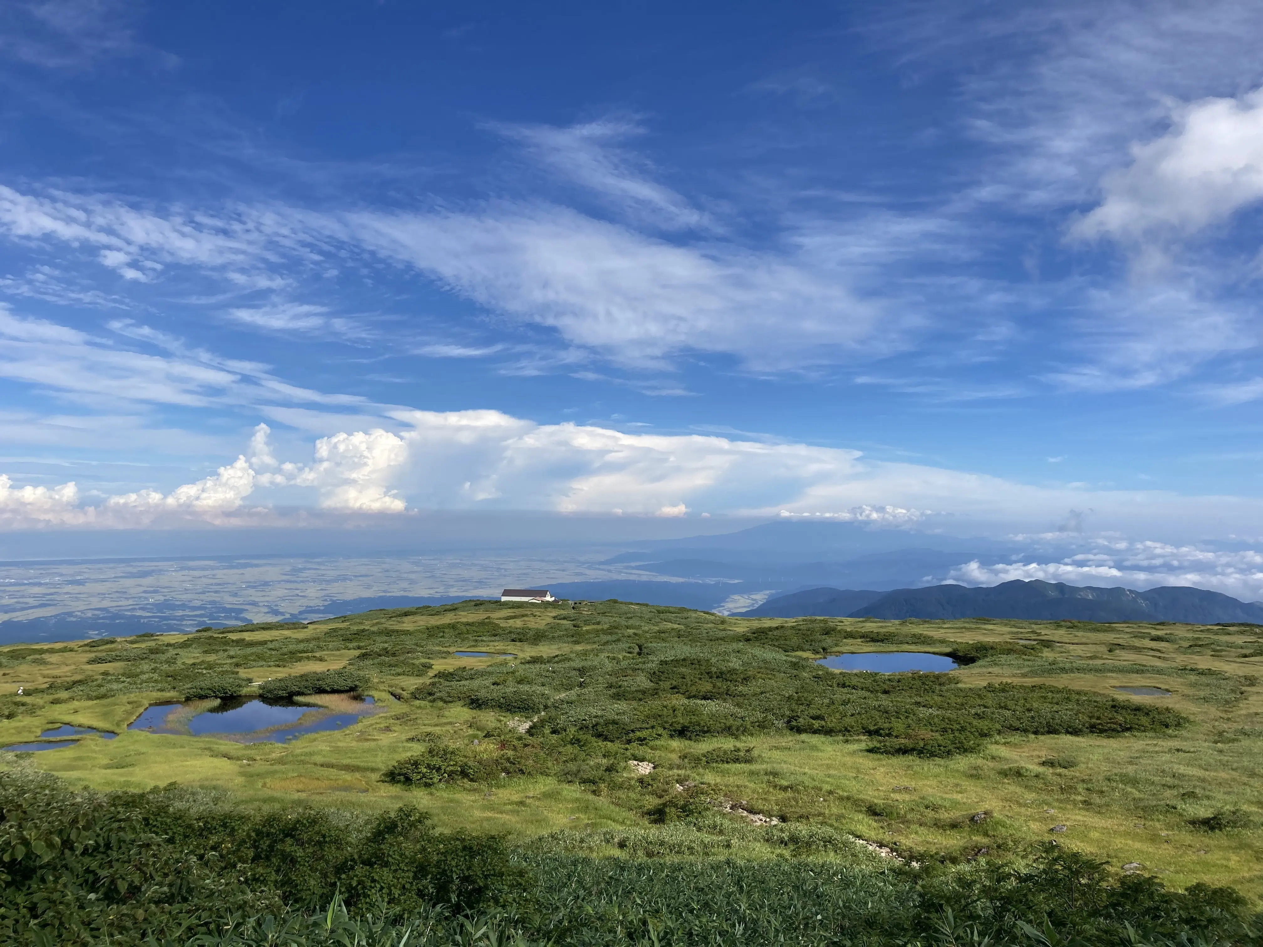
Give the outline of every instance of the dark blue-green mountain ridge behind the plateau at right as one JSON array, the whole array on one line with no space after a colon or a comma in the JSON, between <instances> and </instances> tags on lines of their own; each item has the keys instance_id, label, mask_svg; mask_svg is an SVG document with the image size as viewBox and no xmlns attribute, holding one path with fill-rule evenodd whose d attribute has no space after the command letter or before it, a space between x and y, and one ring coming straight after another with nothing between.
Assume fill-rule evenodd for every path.
<instances>
[{"instance_id":1,"label":"dark blue-green mountain ridge behind the plateau at right","mask_svg":"<svg viewBox=\"0 0 1263 947\"><path fill-rule=\"evenodd\" d=\"M970 588L941 585L893 592L808 588L778 596L743 617L874 619L1026 619L1032 621L1178 621L1215 625L1263 624L1263 604L1188 586L1134 588L1067 586L1065 582L1013 580Z\"/></svg>"}]
</instances>

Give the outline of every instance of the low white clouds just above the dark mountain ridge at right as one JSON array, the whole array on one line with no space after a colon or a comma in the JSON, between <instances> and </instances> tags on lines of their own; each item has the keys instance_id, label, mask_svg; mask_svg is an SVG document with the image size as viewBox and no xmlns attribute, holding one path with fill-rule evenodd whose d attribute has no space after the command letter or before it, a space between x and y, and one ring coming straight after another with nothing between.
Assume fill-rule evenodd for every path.
<instances>
[{"instance_id":1,"label":"low white clouds just above the dark mountain ridge at right","mask_svg":"<svg viewBox=\"0 0 1263 947\"><path fill-rule=\"evenodd\" d=\"M1013 562L984 566L978 559L957 566L949 580L993 586L1039 578L1075 586L1195 586L1253 601L1263 599L1263 553L1221 552L1158 542L1098 540L1099 552L1060 562Z\"/></svg>"}]
</instances>

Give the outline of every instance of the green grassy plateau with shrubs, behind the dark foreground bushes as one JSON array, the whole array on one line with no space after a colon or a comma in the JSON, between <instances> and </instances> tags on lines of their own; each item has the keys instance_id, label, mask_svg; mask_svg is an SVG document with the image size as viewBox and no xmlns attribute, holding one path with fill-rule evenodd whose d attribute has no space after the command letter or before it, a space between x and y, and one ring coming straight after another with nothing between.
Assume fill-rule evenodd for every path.
<instances>
[{"instance_id":1,"label":"green grassy plateau with shrubs, behind the dark foreground bushes","mask_svg":"<svg viewBox=\"0 0 1263 947\"><path fill-rule=\"evenodd\" d=\"M514 657L457 658L457 649ZM823 653L871 650L975 659L951 673L959 684L938 688L945 697L912 684L883 691L888 679L839 691L826 676L846 672L811 664ZM342 667L366 674L365 693L380 705L344 731L246 745L126 730L150 702L181 700L200 676L263 682ZM0 742L62 724L119 734L4 753L0 768L100 790L174 783L261 809L379 813L409 803L440 828L563 854L829 857L859 838L909 862L965 864L1056 840L1115 870L1138 862L1168 886L1231 885L1259 899L1260 672L1255 626L734 619L625 602L462 602L0 648ZM1132 697L1111 689L1119 686L1172 696ZM1046 694L1060 702L1062 722L1031 722L1029 702L1014 703L1029 693L1034 705ZM989 694L1007 703L975 712L999 700ZM813 717L802 711L812 701ZM1103 715L1116 732L1103 732ZM956 717L974 722L960 730ZM1070 732L1077 720L1087 730ZM1065 732L1038 732L1057 727ZM925 750L943 734L960 737L956 750ZM429 787L383 779L436 745L482 775ZM706 755L731 747L740 751L726 755L744 761ZM654 769L640 774L632 760ZM1199 822L1216 813L1218 822Z\"/></svg>"}]
</instances>

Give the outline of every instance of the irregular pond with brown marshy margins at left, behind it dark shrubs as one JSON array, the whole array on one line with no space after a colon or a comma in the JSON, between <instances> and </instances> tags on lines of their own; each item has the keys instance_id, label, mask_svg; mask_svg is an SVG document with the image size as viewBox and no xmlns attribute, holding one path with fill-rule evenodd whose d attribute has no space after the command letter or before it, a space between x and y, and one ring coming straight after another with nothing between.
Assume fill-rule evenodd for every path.
<instances>
[{"instance_id":1,"label":"irregular pond with brown marshy margins at left, behind it dark shrubs","mask_svg":"<svg viewBox=\"0 0 1263 947\"><path fill-rule=\"evenodd\" d=\"M341 730L380 710L371 697L323 693L296 701L258 697L152 703L128 730L211 736L239 744L283 744L304 734Z\"/></svg>"}]
</instances>

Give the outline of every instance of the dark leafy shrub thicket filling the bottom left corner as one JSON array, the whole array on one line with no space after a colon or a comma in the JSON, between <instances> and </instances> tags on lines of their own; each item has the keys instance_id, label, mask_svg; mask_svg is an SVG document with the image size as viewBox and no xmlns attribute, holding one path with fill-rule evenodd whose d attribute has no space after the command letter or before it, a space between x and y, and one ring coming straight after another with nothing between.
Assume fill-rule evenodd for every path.
<instances>
[{"instance_id":1,"label":"dark leafy shrub thicket filling the bottom left corner","mask_svg":"<svg viewBox=\"0 0 1263 947\"><path fill-rule=\"evenodd\" d=\"M404 807L376 818L249 812L179 793L72 793L0 774L0 942L183 944L222 918L508 904L528 874L495 837L438 832Z\"/></svg>"}]
</instances>

